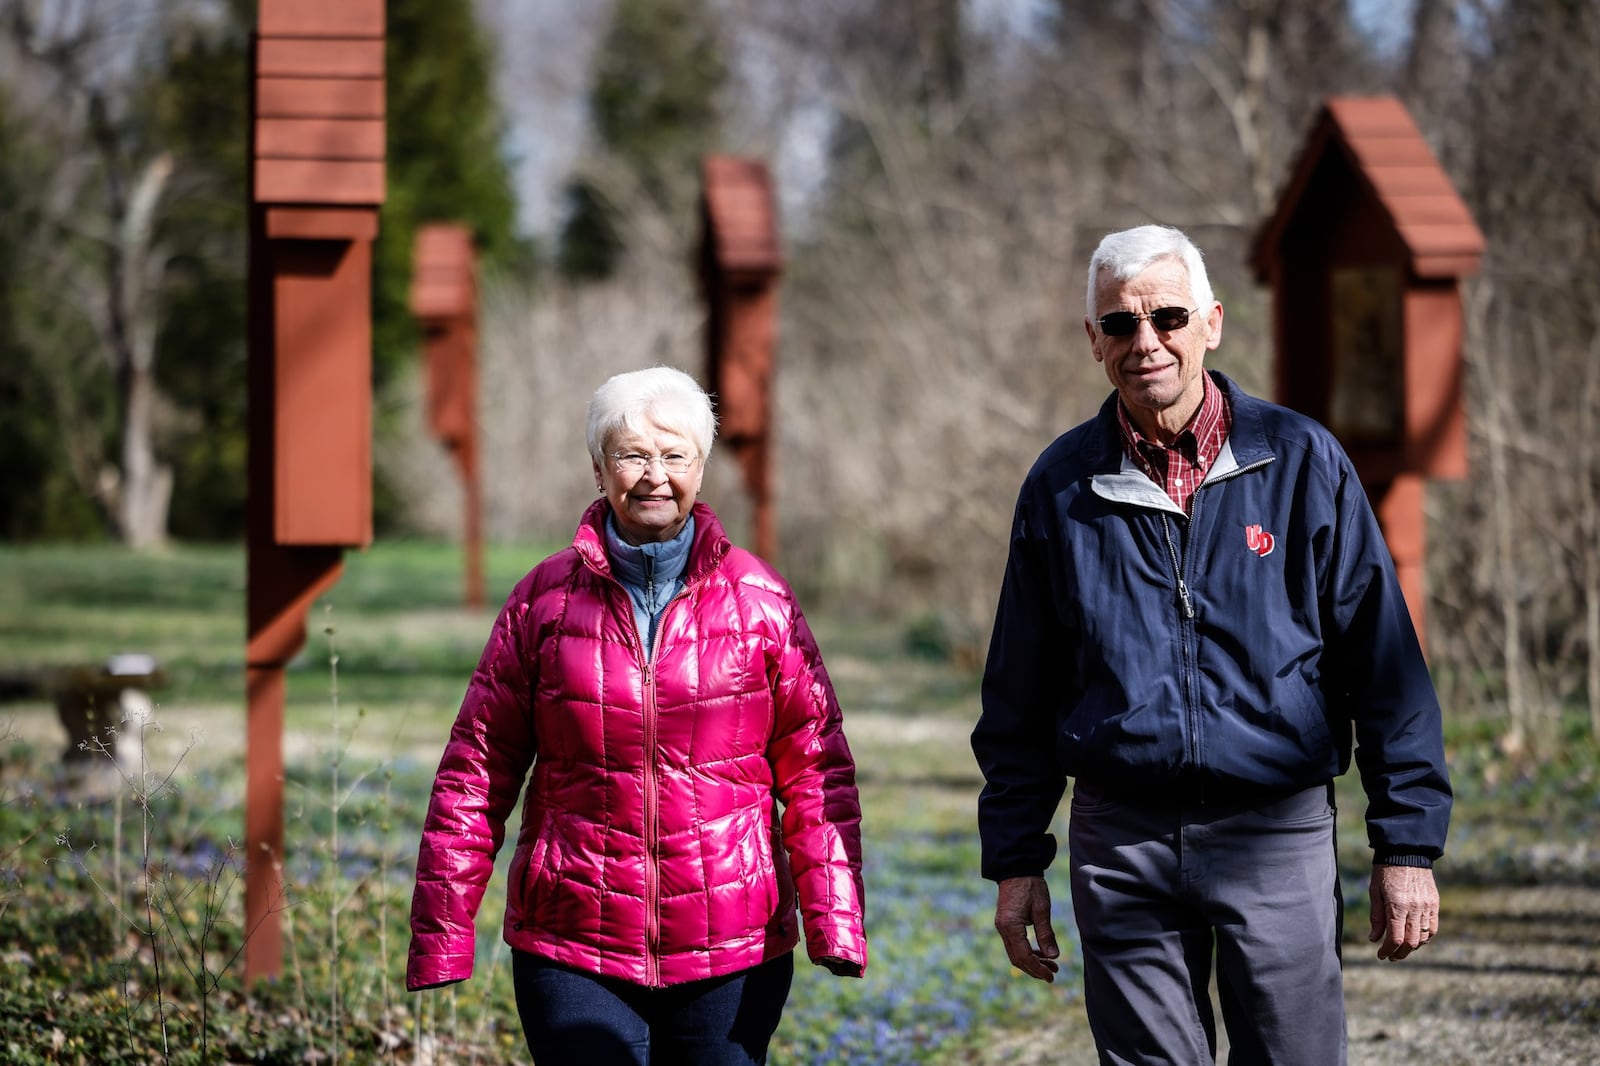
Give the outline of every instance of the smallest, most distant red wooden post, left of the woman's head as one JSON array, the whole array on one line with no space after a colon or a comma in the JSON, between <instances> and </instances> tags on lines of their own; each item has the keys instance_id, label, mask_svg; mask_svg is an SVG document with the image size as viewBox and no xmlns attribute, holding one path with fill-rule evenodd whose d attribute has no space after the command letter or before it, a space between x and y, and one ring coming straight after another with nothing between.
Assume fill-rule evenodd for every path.
<instances>
[{"instance_id":1,"label":"smallest, most distant red wooden post, left of the woman's head","mask_svg":"<svg viewBox=\"0 0 1600 1066\"><path fill-rule=\"evenodd\" d=\"M483 490L478 474L478 306L472 232L435 222L416 232L411 314L424 335L429 429L456 459L462 488L466 603L483 607Z\"/></svg>"}]
</instances>

